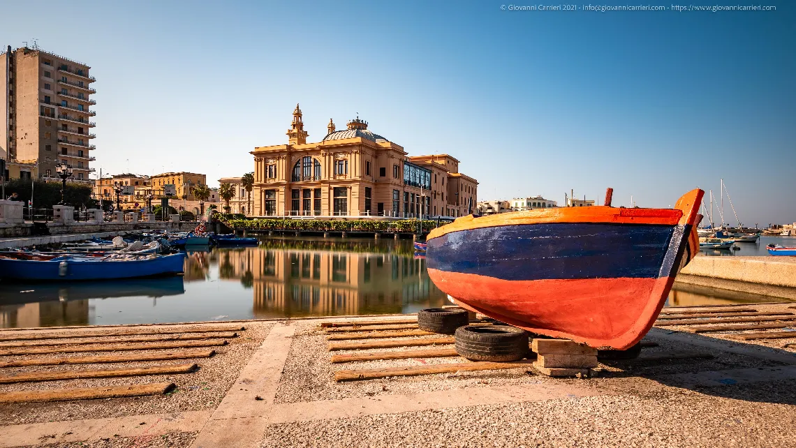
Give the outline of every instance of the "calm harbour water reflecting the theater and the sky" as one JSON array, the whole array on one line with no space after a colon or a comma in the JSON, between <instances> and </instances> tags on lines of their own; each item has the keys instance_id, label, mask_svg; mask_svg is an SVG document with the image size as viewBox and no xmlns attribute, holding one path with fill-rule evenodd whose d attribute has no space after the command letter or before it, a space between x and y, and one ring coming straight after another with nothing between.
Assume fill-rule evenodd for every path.
<instances>
[{"instance_id":1,"label":"calm harbour water reflecting the theater and the sky","mask_svg":"<svg viewBox=\"0 0 796 448\"><path fill-rule=\"evenodd\" d=\"M718 255L764 255L765 238L790 243L761 237ZM667 304L771 301L678 286ZM446 304L411 241L263 238L259 247L189 251L184 277L0 284L0 328L395 314Z\"/></svg>"}]
</instances>

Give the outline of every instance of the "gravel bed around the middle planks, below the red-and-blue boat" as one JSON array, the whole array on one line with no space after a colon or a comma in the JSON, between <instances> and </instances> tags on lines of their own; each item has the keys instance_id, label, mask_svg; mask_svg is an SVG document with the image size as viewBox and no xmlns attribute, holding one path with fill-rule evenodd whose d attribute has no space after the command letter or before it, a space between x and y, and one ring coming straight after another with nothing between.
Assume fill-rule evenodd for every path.
<instances>
[{"instance_id":1,"label":"gravel bed around the middle planks, below the red-and-blue boat","mask_svg":"<svg viewBox=\"0 0 796 448\"><path fill-rule=\"evenodd\" d=\"M436 336L412 337L409 339L425 339ZM598 370L602 371L595 384L604 380L617 377L644 376L654 377L674 373L693 373L729 368L749 368L782 365L774 361L763 361L751 356L735 353L725 353L720 350L704 349L676 341L663 340L648 336L647 341L655 341L658 347L643 350L642 356L674 351L697 351L712 353L712 359L689 360L664 360L664 361L607 361L600 364ZM433 347L412 347L396 349L370 349L370 350L341 350L328 352L326 350L326 332L318 329L317 322L298 323L291 353L283 376L279 381L276 393L276 403L296 403L323 399L345 399L362 396L411 394L416 392L439 391L451 388L482 388L486 386L509 384L533 384L539 382L557 383L567 380L549 378L537 375L533 368L517 368L498 371L458 372L443 373L424 376L397 376L380 380L352 381L346 383L334 382L334 372L340 370L353 370L360 368L389 368L400 366L420 366L432 364L454 364L468 362L461 357L426 358L407 360L375 360L352 362L345 364L331 364L330 356L343 353L373 353L395 352L408 349L432 349ZM453 345L440 347L452 348Z\"/></svg>"}]
</instances>

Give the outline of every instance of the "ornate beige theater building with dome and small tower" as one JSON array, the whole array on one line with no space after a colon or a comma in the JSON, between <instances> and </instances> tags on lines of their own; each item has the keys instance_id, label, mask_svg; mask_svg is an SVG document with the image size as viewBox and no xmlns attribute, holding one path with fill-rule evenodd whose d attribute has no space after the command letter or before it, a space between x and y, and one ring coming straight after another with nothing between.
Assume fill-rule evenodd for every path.
<instances>
[{"instance_id":1,"label":"ornate beige theater building with dome and small tower","mask_svg":"<svg viewBox=\"0 0 796 448\"><path fill-rule=\"evenodd\" d=\"M296 105L286 145L252 151L256 216L462 216L475 210L478 181L447 154L410 157L353 119L307 143Z\"/></svg>"}]
</instances>

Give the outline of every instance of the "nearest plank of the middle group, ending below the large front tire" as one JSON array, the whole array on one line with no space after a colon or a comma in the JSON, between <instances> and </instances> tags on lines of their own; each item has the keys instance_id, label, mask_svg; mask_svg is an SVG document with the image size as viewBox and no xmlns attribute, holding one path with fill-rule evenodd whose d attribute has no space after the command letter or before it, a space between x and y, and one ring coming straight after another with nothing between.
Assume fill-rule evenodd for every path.
<instances>
[{"instance_id":1,"label":"nearest plank of the middle group, ending below the large front tire","mask_svg":"<svg viewBox=\"0 0 796 448\"><path fill-rule=\"evenodd\" d=\"M530 368L532 365L533 361L531 360L520 360L516 362L466 362L458 364L435 364L393 368L369 368L363 370L341 370L334 373L334 380L338 382L375 380L377 378L386 378L388 376L418 376L433 375L435 373Z\"/></svg>"}]
</instances>

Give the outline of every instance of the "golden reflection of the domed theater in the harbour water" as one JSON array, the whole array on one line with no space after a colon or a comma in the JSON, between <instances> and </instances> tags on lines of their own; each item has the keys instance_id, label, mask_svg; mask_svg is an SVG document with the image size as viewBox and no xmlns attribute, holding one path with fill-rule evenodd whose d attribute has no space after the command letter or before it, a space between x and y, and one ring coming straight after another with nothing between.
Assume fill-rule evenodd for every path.
<instances>
[{"instance_id":1,"label":"golden reflection of the domed theater in the harbour water","mask_svg":"<svg viewBox=\"0 0 796 448\"><path fill-rule=\"evenodd\" d=\"M411 242L267 240L216 250L212 258L219 279L252 289L255 317L406 313L444 304Z\"/></svg>"}]
</instances>

